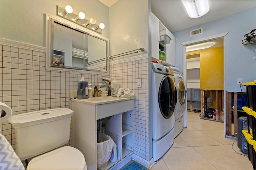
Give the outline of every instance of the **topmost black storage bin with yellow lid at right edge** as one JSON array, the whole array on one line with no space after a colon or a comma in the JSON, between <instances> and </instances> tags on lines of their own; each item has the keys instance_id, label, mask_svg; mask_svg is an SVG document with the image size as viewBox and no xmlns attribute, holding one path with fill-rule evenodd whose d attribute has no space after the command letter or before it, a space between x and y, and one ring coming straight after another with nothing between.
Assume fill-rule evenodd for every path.
<instances>
[{"instance_id":1,"label":"topmost black storage bin with yellow lid at right edge","mask_svg":"<svg viewBox=\"0 0 256 170\"><path fill-rule=\"evenodd\" d=\"M242 85L246 86L248 107L256 112L256 80L253 82L242 83Z\"/></svg>"}]
</instances>

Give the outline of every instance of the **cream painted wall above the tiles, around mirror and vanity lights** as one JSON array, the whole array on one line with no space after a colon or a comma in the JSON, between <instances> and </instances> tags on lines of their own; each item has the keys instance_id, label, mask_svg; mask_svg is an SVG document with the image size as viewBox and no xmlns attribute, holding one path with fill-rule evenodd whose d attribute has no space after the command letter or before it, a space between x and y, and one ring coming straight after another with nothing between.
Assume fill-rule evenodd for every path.
<instances>
[{"instance_id":1,"label":"cream painted wall above the tiles, around mirror and vanity lights","mask_svg":"<svg viewBox=\"0 0 256 170\"><path fill-rule=\"evenodd\" d=\"M70 5L73 13L105 24L102 36L109 38L109 8L98 0L1 0L0 37L45 47L46 16L57 16L57 6Z\"/></svg>"}]
</instances>

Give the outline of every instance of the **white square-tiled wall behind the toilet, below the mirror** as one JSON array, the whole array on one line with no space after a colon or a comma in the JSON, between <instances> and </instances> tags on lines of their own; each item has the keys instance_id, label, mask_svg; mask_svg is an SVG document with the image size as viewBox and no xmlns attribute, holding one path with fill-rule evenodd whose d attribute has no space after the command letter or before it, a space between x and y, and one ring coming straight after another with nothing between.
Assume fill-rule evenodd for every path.
<instances>
[{"instance_id":1,"label":"white square-tiled wall behind the toilet, below the mirror","mask_svg":"<svg viewBox=\"0 0 256 170\"><path fill-rule=\"evenodd\" d=\"M70 91L81 77L97 85L100 74L71 74L45 69L45 53L0 44L0 101L17 115L31 111L67 107L72 109ZM8 121L0 123L2 133L15 149L15 129ZM72 145L72 130L70 130Z\"/></svg>"}]
</instances>

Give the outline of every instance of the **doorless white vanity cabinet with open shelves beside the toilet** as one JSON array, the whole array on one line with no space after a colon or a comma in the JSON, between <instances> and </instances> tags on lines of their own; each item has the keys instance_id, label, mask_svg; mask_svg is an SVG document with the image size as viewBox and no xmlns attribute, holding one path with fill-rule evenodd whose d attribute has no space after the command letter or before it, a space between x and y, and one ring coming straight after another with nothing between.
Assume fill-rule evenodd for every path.
<instances>
[{"instance_id":1,"label":"doorless white vanity cabinet with open shelves beside the toilet","mask_svg":"<svg viewBox=\"0 0 256 170\"><path fill-rule=\"evenodd\" d=\"M100 97L99 97L100 98ZM110 97L108 97L110 98ZM94 98L90 98L94 99ZM72 132L73 147L80 150L85 157L88 170L97 169L97 121L107 118L105 133L117 147L117 161L108 161L111 169L131 160L133 151L134 98L116 99L113 101L91 101L90 99L72 99Z\"/></svg>"}]
</instances>

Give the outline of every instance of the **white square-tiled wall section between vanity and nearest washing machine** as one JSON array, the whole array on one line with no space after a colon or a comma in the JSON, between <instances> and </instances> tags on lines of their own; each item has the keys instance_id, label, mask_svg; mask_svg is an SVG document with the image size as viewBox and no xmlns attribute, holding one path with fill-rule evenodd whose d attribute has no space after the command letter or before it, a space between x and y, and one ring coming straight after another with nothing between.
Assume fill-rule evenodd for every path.
<instances>
[{"instance_id":1,"label":"white square-tiled wall section between vanity and nearest washing machine","mask_svg":"<svg viewBox=\"0 0 256 170\"><path fill-rule=\"evenodd\" d=\"M143 58L143 57L137 57ZM110 65L110 77L117 79L120 87L127 87L136 95L133 112L134 151L145 160L149 158L149 117L148 117L148 58ZM142 79L142 87L137 87Z\"/></svg>"}]
</instances>

